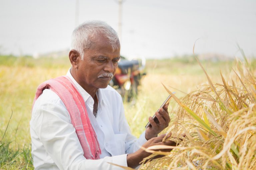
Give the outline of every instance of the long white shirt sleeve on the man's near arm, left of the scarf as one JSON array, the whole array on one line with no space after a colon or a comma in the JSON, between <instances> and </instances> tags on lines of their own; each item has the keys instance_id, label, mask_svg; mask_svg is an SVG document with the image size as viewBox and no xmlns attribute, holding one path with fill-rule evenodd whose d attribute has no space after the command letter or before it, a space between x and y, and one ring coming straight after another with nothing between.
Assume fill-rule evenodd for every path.
<instances>
[{"instance_id":1,"label":"long white shirt sleeve on the man's near arm, left of the scarf","mask_svg":"<svg viewBox=\"0 0 256 170\"><path fill-rule=\"evenodd\" d=\"M50 155L59 169L122 169L108 162L127 166L127 154L105 157L98 160L86 159L83 156L83 150L75 128L70 123L69 116L67 115L69 113L65 107L51 102L40 103L40 101L37 101L32 111L31 128L38 135L47 154Z\"/></svg>"}]
</instances>

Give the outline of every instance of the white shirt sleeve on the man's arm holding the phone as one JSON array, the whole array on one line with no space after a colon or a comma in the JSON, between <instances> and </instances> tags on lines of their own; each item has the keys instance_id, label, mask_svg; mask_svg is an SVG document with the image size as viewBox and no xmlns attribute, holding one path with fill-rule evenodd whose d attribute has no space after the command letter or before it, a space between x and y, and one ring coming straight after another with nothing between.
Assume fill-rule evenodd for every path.
<instances>
[{"instance_id":1,"label":"white shirt sleeve on the man's arm holding the phone","mask_svg":"<svg viewBox=\"0 0 256 170\"><path fill-rule=\"evenodd\" d=\"M122 102L120 108L119 129L121 132L127 133L125 139L125 153L136 152L147 141L147 139L145 138L145 130L138 139L131 134L130 127L124 115L124 107Z\"/></svg>"}]
</instances>

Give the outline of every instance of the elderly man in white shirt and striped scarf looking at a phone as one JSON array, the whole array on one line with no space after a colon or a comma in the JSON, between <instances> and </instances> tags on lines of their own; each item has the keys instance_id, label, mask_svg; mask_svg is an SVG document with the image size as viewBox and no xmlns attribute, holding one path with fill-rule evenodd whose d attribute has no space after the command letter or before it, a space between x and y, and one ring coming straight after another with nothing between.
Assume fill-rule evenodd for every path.
<instances>
[{"instance_id":1,"label":"elderly man in white shirt and striped scarf looking at a phone","mask_svg":"<svg viewBox=\"0 0 256 170\"><path fill-rule=\"evenodd\" d=\"M121 96L108 83L120 59L117 33L101 21L77 27L66 76L42 83L33 104L30 133L35 169L119 169L136 167L150 153L140 149L162 143L168 126L166 105L156 123L137 139L124 116ZM122 169L122 168L121 168Z\"/></svg>"}]
</instances>

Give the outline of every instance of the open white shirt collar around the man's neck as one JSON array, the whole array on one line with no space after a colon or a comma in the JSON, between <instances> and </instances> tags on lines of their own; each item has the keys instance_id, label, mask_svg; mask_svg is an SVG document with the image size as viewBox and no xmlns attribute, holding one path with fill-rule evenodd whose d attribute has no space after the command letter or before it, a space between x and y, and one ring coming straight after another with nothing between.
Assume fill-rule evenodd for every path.
<instances>
[{"instance_id":1,"label":"open white shirt collar around the man's neck","mask_svg":"<svg viewBox=\"0 0 256 170\"><path fill-rule=\"evenodd\" d=\"M75 84L75 86L77 87L78 91L80 92L80 94L82 95L84 101L86 102L90 97L91 95L89 93L87 93L87 91L85 91L82 86L80 86L80 84L77 83L77 81L74 79L74 77L71 75L70 73L70 69L68 70L66 76L68 76L72 81L73 83ZM102 105L104 103L103 101L103 96L102 96L102 89L98 89L97 92L96 92L96 95L98 97L98 101L99 101L99 104Z\"/></svg>"}]
</instances>

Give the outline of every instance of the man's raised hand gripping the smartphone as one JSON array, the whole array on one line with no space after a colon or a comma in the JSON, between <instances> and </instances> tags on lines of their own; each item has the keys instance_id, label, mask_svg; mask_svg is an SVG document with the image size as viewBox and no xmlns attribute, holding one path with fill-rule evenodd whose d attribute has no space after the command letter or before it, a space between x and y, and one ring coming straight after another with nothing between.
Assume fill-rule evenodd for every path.
<instances>
[{"instance_id":1,"label":"man's raised hand gripping the smartphone","mask_svg":"<svg viewBox=\"0 0 256 170\"><path fill-rule=\"evenodd\" d=\"M156 112L156 118L158 121L154 121L152 117L148 118L149 123L151 126L146 128L145 138L147 140L156 137L158 133L160 133L163 129L167 128L170 122L170 117L168 114L168 104L164 106L164 108L160 108L159 112Z\"/></svg>"}]
</instances>

